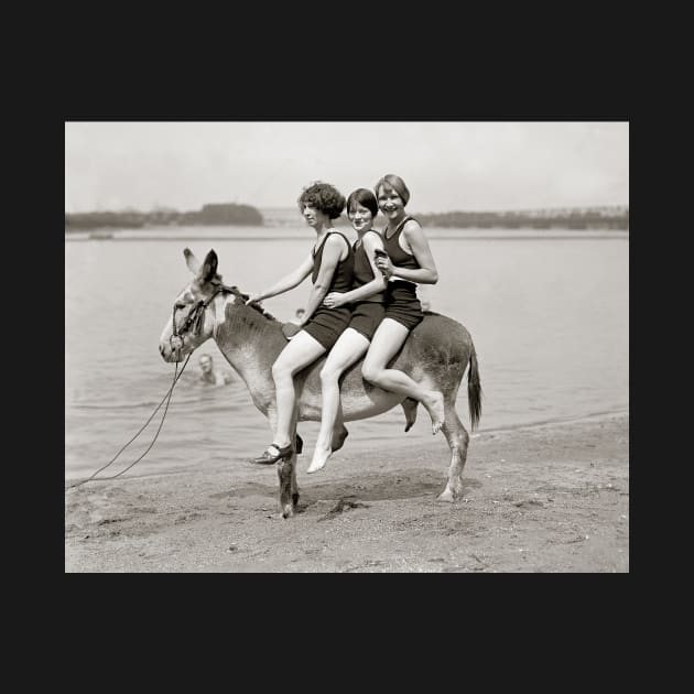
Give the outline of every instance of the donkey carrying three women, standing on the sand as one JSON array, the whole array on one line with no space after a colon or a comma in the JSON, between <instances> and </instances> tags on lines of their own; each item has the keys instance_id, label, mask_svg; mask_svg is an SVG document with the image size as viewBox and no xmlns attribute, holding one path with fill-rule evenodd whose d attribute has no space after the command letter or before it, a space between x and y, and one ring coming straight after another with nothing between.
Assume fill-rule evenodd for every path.
<instances>
[{"instance_id":1,"label":"donkey carrying three women, standing on the sand","mask_svg":"<svg viewBox=\"0 0 694 694\"><path fill-rule=\"evenodd\" d=\"M247 294L237 286L227 286L217 273L217 254L210 250L200 263L189 249L184 249L193 281L175 300L173 314L160 338L159 350L167 362L182 361L212 337L227 361L246 382L253 404L275 424L274 382L272 364L286 345L282 323L258 304L246 305ZM321 369L325 355L299 371L294 377L296 410L292 421L292 440L296 422L321 420ZM364 420L402 404L408 431L415 421L416 401L376 388L361 377L360 359L340 379L343 420ZM477 427L481 415L481 387L473 338L453 318L426 313L389 368L400 369L425 388L444 395L442 431L451 448L451 465L441 501L457 500L463 490L463 468L467 458L469 435L458 419L455 401L466 368L469 365L467 398L470 426ZM339 449L347 437L340 422L333 432L332 448ZM293 516L299 501L296 452L276 463L280 479L280 510L283 518Z\"/></svg>"}]
</instances>

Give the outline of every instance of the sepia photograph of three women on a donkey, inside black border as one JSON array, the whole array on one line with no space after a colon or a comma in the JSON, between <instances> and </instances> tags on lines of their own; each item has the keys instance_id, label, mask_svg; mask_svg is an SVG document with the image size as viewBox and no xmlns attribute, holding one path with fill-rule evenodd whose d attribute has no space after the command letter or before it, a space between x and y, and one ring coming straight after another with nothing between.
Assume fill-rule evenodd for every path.
<instances>
[{"instance_id":1,"label":"sepia photograph of three women on a donkey, inside black border","mask_svg":"<svg viewBox=\"0 0 694 694\"><path fill-rule=\"evenodd\" d=\"M628 121L65 121L65 573L628 572Z\"/></svg>"}]
</instances>

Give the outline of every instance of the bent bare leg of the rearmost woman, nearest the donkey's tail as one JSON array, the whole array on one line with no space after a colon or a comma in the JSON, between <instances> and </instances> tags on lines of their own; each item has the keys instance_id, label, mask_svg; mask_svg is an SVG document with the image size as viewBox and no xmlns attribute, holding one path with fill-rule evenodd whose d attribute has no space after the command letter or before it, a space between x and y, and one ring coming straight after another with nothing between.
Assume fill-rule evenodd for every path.
<instances>
[{"instance_id":1,"label":"bent bare leg of the rearmost woman, nearest the donkey's tail","mask_svg":"<svg viewBox=\"0 0 694 694\"><path fill-rule=\"evenodd\" d=\"M402 347L410 330L392 318L383 318L371 339L371 346L364 359L364 378L383 390L401 393L419 400L432 418L432 433L444 423L444 397L438 390L429 390L413 381L398 369L387 369L386 365Z\"/></svg>"}]
</instances>

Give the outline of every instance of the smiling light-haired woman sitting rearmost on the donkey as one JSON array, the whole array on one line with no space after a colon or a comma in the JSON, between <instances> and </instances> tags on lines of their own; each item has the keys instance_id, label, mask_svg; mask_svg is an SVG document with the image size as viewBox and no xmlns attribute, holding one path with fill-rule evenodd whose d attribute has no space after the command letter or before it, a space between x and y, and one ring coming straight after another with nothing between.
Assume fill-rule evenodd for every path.
<instances>
[{"instance_id":1,"label":"smiling light-haired woman sitting rearmost on the donkey","mask_svg":"<svg viewBox=\"0 0 694 694\"><path fill-rule=\"evenodd\" d=\"M387 368L410 332L423 319L416 285L436 284L438 271L420 223L405 213L410 191L395 174L379 178L373 187L387 225L381 232L387 256L376 264L388 279L386 313L364 358L364 378L383 390L421 402L432 419L432 433L444 422L444 399L438 390L420 386L403 371Z\"/></svg>"}]
</instances>

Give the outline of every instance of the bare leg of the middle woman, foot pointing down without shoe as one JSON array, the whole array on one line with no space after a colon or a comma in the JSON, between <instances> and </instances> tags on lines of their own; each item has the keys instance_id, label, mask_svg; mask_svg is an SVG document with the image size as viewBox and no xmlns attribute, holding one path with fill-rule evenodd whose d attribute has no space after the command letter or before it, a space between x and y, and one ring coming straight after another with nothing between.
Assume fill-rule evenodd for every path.
<instances>
[{"instance_id":1,"label":"bare leg of the middle woman, foot pointing down without shoe","mask_svg":"<svg viewBox=\"0 0 694 694\"><path fill-rule=\"evenodd\" d=\"M339 377L369 348L369 340L353 328L347 328L337 339L321 370L321 431L307 473L322 469L330 457L330 441L339 414Z\"/></svg>"}]
</instances>

